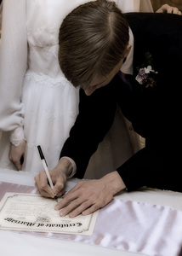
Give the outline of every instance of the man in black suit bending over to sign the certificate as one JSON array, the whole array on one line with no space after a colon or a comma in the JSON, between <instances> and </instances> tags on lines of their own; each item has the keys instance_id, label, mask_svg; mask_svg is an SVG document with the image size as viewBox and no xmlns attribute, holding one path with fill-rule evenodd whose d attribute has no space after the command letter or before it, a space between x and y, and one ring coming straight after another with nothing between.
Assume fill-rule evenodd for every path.
<instances>
[{"instance_id":1,"label":"man in black suit bending over to sign the certificate","mask_svg":"<svg viewBox=\"0 0 182 256\"><path fill-rule=\"evenodd\" d=\"M134 45L128 44L128 25ZM83 177L88 160L112 125L117 105L134 131L145 137L145 148L117 170L78 183L57 205L57 209L65 207L60 215L94 212L124 189L147 186L182 192L181 16L122 15L115 3L86 3L73 10L60 27L59 58L65 77L81 89L76 123L59 165L50 171L56 194L63 193L68 176ZM124 65L133 69L133 75L120 71ZM54 197L43 172L35 180L42 195Z\"/></svg>"}]
</instances>

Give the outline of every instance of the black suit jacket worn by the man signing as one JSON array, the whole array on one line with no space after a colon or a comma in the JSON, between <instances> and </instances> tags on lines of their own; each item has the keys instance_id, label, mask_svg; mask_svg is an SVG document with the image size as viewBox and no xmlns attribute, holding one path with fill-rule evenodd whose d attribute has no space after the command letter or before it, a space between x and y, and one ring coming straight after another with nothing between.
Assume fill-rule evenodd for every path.
<instances>
[{"instance_id":1,"label":"black suit jacket worn by the man signing","mask_svg":"<svg viewBox=\"0 0 182 256\"><path fill-rule=\"evenodd\" d=\"M134 33L134 76L128 77L131 86L117 74L110 84L91 96L80 90L79 114L60 157L67 155L75 160L76 176L83 177L88 160L111 128L119 105L134 131L146 140L145 148L117 168L128 190L148 186L182 191L182 17L130 13L126 18ZM150 52L152 67L157 71L152 90L135 80L146 52Z\"/></svg>"}]
</instances>

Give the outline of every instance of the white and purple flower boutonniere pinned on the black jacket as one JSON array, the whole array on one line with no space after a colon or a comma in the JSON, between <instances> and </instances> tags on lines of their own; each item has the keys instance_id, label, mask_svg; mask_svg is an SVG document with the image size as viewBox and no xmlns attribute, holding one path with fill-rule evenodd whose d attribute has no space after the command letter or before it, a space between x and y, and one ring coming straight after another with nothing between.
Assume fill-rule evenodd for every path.
<instances>
[{"instance_id":1,"label":"white and purple flower boutonniere pinned on the black jacket","mask_svg":"<svg viewBox=\"0 0 182 256\"><path fill-rule=\"evenodd\" d=\"M136 75L135 79L146 89L152 89L156 85L156 72L152 68L152 57L150 52L145 53L145 61L137 67L139 73Z\"/></svg>"}]
</instances>

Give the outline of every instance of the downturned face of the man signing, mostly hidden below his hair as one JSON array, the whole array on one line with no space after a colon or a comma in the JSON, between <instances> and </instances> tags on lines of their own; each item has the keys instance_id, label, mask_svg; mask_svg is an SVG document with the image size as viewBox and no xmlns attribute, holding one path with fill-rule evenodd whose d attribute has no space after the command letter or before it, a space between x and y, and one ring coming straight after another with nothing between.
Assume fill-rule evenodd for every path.
<instances>
[{"instance_id":1,"label":"downturned face of the man signing, mostly hidden below his hair","mask_svg":"<svg viewBox=\"0 0 182 256\"><path fill-rule=\"evenodd\" d=\"M85 94L87 96L90 96L94 92L94 90L97 90L100 87L103 87L103 86L105 86L105 85L107 85L111 82L111 79L114 78L114 76L117 74L117 72L122 67L123 60L124 60L124 58L126 58L128 56L128 53L129 53L130 49L131 49L131 46L128 45L128 48L127 48L127 50L125 52L125 55L122 58L122 60L117 64L116 67L114 67L114 69L112 69L111 73L109 73L106 77L101 77L101 76L94 77L94 79L92 80L92 82L88 86L88 89L84 90Z\"/></svg>"}]
</instances>

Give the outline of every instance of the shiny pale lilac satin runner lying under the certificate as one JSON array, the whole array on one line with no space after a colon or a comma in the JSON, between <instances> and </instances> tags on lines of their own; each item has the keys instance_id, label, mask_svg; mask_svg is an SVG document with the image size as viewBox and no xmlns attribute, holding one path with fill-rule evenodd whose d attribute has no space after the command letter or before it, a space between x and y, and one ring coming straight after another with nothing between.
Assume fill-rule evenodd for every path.
<instances>
[{"instance_id":1,"label":"shiny pale lilac satin runner lying under the certificate","mask_svg":"<svg viewBox=\"0 0 182 256\"><path fill-rule=\"evenodd\" d=\"M5 192L35 194L37 189L0 183L0 199ZM150 256L179 256L182 212L171 207L113 199L100 209L93 236L30 233Z\"/></svg>"}]
</instances>

